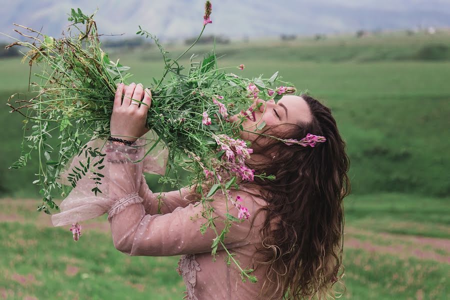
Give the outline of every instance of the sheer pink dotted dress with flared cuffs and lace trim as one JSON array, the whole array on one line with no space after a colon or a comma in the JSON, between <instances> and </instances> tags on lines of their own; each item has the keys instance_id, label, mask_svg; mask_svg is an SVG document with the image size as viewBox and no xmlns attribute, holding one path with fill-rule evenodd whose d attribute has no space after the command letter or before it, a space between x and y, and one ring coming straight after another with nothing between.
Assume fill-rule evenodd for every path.
<instances>
[{"instance_id":1,"label":"sheer pink dotted dress with flared cuffs and lace trim","mask_svg":"<svg viewBox=\"0 0 450 300\"><path fill-rule=\"evenodd\" d=\"M131 162L144 157L154 140L152 131L135 142L137 147L101 139L90 140L88 147L92 150L98 147L97 151L106 154L102 161L104 168L97 170L98 165L93 166L100 157L90 161L86 175L59 205L61 212L52 215L53 225L71 224L107 213L113 244L119 251L131 256L181 255L176 270L186 284L184 299L255 299L261 290L267 267L257 262L252 264L255 249L261 245L259 229L265 214L257 214L251 229L250 221L255 217L256 210L266 202L242 190L231 191L234 199L237 195L242 198L241 204L247 207L250 218L232 223L225 245L230 253L235 253L242 269L255 269L252 274L258 279L257 283L242 282L237 266L233 262L230 265L225 263L227 255L223 247L218 247L216 261L213 261L211 243L216 235L211 228L204 235L200 233L200 226L206 218L201 215L201 203L195 201L196 195L188 188L163 193L158 213L159 193L149 190L143 172L164 174L167 150L159 144L142 161ZM73 157L67 163L58 179L60 183L70 185L67 174L72 167L80 166L79 161L86 165L84 154ZM91 191L98 177L95 172L104 176L98 186L102 193L96 196ZM226 207L235 217L238 211L230 202L226 203L223 195L217 193L214 197L212 205L215 211L212 214L216 217L214 223L220 233L224 227ZM272 283L267 281L266 284Z\"/></svg>"}]
</instances>

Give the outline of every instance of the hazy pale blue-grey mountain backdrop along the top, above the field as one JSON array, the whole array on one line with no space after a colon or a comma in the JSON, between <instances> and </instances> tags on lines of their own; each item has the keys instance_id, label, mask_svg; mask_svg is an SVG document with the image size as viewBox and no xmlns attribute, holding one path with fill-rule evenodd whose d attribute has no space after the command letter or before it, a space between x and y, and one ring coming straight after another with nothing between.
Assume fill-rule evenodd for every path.
<instances>
[{"instance_id":1,"label":"hazy pale blue-grey mountain backdrop along the top, above the field","mask_svg":"<svg viewBox=\"0 0 450 300\"><path fill-rule=\"evenodd\" d=\"M0 0L0 32L13 34L12 23L59 36L71 8L85 14L96 8L103 34L134 37L137 25L161 40L196 35L202 26L202 0ZM207 33L231 38L313 35L360 29L450 27L449 0L212 0ZM121 37L116 37L119 39ZM1 40L5 40L0 36ZM115 39L115 38L114 38Z\"/></svg>"}]
</instances>

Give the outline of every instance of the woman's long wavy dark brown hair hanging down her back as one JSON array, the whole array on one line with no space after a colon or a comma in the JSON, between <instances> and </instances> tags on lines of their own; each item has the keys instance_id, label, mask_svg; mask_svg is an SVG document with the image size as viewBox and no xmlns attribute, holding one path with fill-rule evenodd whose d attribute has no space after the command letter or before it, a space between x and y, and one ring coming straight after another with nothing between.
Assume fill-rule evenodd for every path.
<instances>
[{"instance_id":1,"label":"woman's long wavy dark brown hair hanging down her back","mask_svg":"<svg viewBox=\"0 0 450 300\"><path fill-rule=\"evenodd\" d=\"M330 109L307 95L301 97L312 120L292 124L282 138L300 140L311 133L326 141L313 148L280 141L264 144L259 154L269 157L270 163L250 165L256 173L275 175L273 181L255 177L251 183L267 201L267 206L255 213L265 211L266 218L260 229L262 246L253 256L253 265L256 257L262 259L257 260L259 264L268 265L259 294L263 299L334 297L334 284L341 283L343 275L342 200L350 192L346 146ZM270 134L272 129L264 133ZM253 144L260 139L267 137L259 136ZM276 226L271 225L273 220Z\"/></svg>"}]
</instances>

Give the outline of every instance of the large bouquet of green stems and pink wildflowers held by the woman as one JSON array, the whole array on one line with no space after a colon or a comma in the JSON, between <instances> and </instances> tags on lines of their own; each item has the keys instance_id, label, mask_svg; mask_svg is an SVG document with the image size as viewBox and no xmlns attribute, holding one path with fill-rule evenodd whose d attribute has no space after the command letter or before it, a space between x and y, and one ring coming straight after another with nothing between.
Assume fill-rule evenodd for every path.
<instances>
[{"instance_id":1,"label":"large bouquet of green stems and pink wildflowers held by the woman","mask_svg":"<svg viewBox=\"0 0 450 300\"><path fill-rule=\"evenodd\" d=\"M234 201L229 195L230 188L238 189L236 180L252 181L255 176L270 180L273 176L255 174L245 165L245 160L252 153L248 142L238 138L238 131L244 130L241 123L244 118L254 120L250 106L256 99L277 101L283 94L294 93L295 89L287 87L278 77L278 72L270 78L242 78L218 68L214 52L206 54L199 62L189 59L189 66L184 69L179 59L190 50L200 38L205 26L211 23L211 4L205 4L203 27L197 40L176 59L158 42L158 39L139 26L137 35L152 39L164 61L161 78L154 79L149 88L152 91L152 104L147 114L148 128L153 130L158 142L163 142L168 149L168 167L166 176L161 178L163 184L169 183L180 187L182 184L176 165L190 170L188 183L196 183L197 192L202 195L201 202L205 210L211 209L211 197L218 191L227 195L238 210L238 218L227 214L227 223L222 232L216 232L212 241L212 255L223 244L225 233L231 222L240 222L249 217L248 210L239 204L239 197ZM87 16L79 9L72 10L68 18L70 26L60 39L46 36L33 29L16 25L17 33L31 42L16 42L8 45L22 46L29 51L23 61L37 65L40 73L35 74L40 82L31 83L34 97L17 100L18 105L8 105L12 111L25 117L25 128L31 125L32 132L23 137L21 155L11 168L20 168L31 159L31 153L37 152L39 170L33 182L41 188L42 204L38 211L51 214L49 209L58 209L53 202L54 191L63 189L56 181L61 170L74 155L97 157L102 155L98 149L82 147L84 138L109 136L109 121L112 112L116 83L127 82L130 73L128 67L112 61L100 48L99 35L94 21L95 13ZM19 31L20 30L20 31ZM22 33L26 30L27 33ZM231 67L238 72L244 65ZM236 72L236 73L237 73ZM10 102L17 94L12 95ZM241 108L244 108L241 110ZM255 107L254 109L257 109ZM229 116L239 113L240 122L229 122ZM258 123L260 130L264 122ZM59 149L48 144L48 139L56 134ZM307 141L286 140L286 144L320 142L308 138ZM151 148L150 148L151 150ZM146 154L148 154L150 152ZM101 161L98 162L92 193L101 193ZM74 167L68 180L73 187L85 175L89 165ZM169 177L169 172L173 176ZM226 173L226 180L220 174ZM229 175L229 176L228 176ZM204 187L207 189L204 189ZM64 195L61 194L62 196ZM206 214L205 214L206 215ZM200 228L204 233L207 228L215 231L214 222L208 219ZM80 225L71 228L75 240L81 235ZM252 269L241 269L239 263L228 251L228 263L234 261L241 270L242 280L248 278L256 282L250 273Z\"/></svg>"}]
</instances>

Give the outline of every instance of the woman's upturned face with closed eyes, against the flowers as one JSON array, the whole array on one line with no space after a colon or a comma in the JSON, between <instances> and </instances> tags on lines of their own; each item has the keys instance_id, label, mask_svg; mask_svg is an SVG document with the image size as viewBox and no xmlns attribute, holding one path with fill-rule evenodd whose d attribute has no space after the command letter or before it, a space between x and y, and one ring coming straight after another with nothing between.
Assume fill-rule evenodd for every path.
<instances>
[{"instance_id":1,"label":"woman's upturned face with closed eyes, against the flowers","mask_svg":"<svg viewBox=\"0 0 450 300\"><path fill-rule=\"evenodd\" d=\"M298 124L300 122L308 123L312 119L308 104L299 96L286 95L281 97L278 103L275 103L273 100L264 101L257 99L250 106L249 111L257 107L259 103L261 103L259 109L246 116L242 122L244 131L240 133L240 137L244 140L254 141L257 137L255 133L261 133L269 126ZM239 115L242 114L234 115L229 120L237 122ZM265 127L258 130L256 126L261 126L262 122L265 122ZM278 126L275 130L283 132L283 126ZM274 134L276 134L276 131Z\"/></svg>"}]
</instances>

